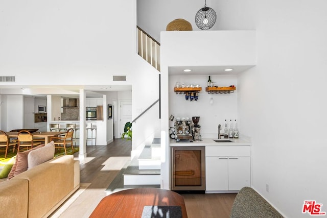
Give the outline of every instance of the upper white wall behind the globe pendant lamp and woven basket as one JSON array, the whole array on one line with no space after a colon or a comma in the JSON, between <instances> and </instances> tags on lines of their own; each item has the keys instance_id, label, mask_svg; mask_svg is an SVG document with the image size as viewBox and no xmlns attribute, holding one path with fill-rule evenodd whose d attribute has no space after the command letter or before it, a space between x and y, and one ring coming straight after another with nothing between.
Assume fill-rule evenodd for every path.
<instances>
[{"instance_id":1,"label":"upper white wall behind the globe pendant lamp and woven basket","mask_svg":"<svg viewBox=\"0 0 327 218\"><path fill-rule=\"evenodd\" d=\"M254 30L256 8L254 1L207 0L217 14L215 25L207 30ZM137 25L157 41L160 31L166 31L169 22L177 18L188 20L194 31L200 31L195 24L195 15L204 7L204 1L198 0L137 0Z\"/></svg>"}]
</instances>

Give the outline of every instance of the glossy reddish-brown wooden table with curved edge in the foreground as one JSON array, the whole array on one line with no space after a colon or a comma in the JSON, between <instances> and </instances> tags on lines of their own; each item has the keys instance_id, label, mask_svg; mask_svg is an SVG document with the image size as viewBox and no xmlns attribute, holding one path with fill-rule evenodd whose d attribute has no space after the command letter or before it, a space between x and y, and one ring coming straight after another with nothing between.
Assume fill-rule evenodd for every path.
<instances>
[{"instance_id":1,"label":"glossy reddish-brown wooden table with curved edge in the foreground","mask_svg":"<svg viewBox=\"0 0 327 218\"><path fill-rule=\"evenodd\" d=\"M183 197L160 188L132 188L112 193L100 201L90 217L141 218L144 206L180 206L181 217L188 217Z\"/></svg>"}]
</instances>

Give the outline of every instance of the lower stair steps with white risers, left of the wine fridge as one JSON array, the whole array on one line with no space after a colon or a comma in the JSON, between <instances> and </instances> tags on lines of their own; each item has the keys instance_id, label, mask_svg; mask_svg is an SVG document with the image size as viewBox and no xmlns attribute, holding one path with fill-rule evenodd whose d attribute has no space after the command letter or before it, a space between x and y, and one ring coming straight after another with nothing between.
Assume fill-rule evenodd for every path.
<instances>
[{"instance_id":1,"label":"lower stair steps with white risers, left of the wine fridge","mask_svg":"<svg viewBox=\"0 0 327 218\"><path fill-rule=\"evenodd\" d=\"M113 192L136 187L160 188L160 139L153 139L144 147L138 157L123 167L106 189L106 195Z\"/></svg>"}]
</instances>

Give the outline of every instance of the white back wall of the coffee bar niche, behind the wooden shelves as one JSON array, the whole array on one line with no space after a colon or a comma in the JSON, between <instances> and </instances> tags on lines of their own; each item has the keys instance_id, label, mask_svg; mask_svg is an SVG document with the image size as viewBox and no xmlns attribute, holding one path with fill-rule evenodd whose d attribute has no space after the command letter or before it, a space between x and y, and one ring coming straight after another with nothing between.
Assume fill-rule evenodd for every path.
<instances>
[{"instance_id":1,"label":"white back wall of the coffee bar niche, behind the wooden shelves","mask_svg":"<svg viewBox=\"0 0 327 218\"><path fill-rule=\"evenodd\" d=\"M204 138L218 137L218 124L224 128L225 119L238 119L237 114L237 90L230 94L208 94L205 91L208 76L170 76L169 77L169 112L177 117L200 116L200 134ZM217 82L219 86L237 85L237 76L212 75L211 80ZM176 94L174 87L176 82L185 84L198 84L202 87L197 101L185 100L184 94ZM210 103L213 99L213 104ZM170 127L174 127L174 122L169 122Z\"/></svg>"}]
</instances>

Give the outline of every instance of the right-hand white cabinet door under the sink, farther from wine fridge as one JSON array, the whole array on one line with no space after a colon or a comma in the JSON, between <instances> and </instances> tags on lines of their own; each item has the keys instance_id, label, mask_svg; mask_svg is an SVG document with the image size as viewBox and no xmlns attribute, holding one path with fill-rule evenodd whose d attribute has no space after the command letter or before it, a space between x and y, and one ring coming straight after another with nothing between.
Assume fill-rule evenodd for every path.
<instances>
[{"instance_id":1,"label":"right-hand white cabinet door under the sink, farther from wine fridge","mask_svg":"<svg viewBox=\"0 0 327 218\"><path fill-rule=\"evenodd\" d=\"M249 156L228 157L228 190L240 190L251 185Z\"/></svg>"}]
</instances>

